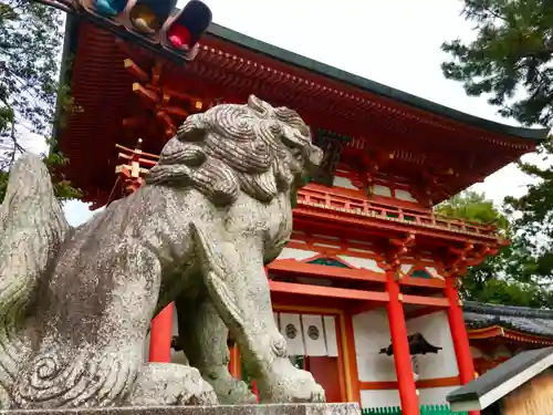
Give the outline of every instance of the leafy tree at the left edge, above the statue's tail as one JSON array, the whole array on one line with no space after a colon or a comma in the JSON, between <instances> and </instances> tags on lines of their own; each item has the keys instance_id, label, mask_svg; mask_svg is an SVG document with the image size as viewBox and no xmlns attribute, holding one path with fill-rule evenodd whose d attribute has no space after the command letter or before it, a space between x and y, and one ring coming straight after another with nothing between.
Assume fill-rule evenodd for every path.
<instances>
[{"instance_id":1,"label":"leafy tree at the left edge, above the statue's tail","mask_svg":"<svg viewBox=\"0 0 553 415\"><path fill-rule=\"evenodd\" d=\"M63 39L59 10L29 0L0 3L0 200L3 199L11 165L25 151L24 135L50 138L56 102L73 111L66 87L60 87L59 56ZM67 163L59 152L43 155L53 172ZM80 191L55 176L61 199Z\"/></svg>"}]
</instances>

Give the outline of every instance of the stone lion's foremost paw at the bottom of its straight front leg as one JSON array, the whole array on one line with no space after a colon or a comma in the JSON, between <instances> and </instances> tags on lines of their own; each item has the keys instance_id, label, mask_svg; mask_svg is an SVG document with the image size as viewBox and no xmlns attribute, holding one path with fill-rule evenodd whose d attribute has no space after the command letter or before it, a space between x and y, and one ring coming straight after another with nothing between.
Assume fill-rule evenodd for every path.
<instances>
[{"instance_id":1,"label":"stone lion's foremost paw at the bottom of its straight front leg","mask_svg":"<svg viewBox=\"0 0 553 415\"><path fill-rule=\"evenodd\" d=\"M288 363L286 363L288 362ZM262 402L271 403L324 403L324 390L310 372L294 367L288 359L275 365L275 372L260 382Z\"/></svg>"}]
</instances>

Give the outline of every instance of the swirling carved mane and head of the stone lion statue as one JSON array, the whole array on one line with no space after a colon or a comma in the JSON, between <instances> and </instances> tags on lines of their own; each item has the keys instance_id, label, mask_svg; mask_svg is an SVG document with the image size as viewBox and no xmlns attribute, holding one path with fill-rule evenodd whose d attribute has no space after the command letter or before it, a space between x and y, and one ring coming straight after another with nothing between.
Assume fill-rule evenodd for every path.
<instances>
[{"instance_id":1,"label":"swirling carved mane and head of the stone lion statue","mask_svg":"<svg viewBox=\"0 0 553 415\"><path fill-rule=\"evenodd\" d=\"M301 145L291 151L286 141ZM223 104L189 116L147 183L190 186L218 206L232 204L240 191L265 203L302 175L309 148L310 128L295 111L252 95L246 105Z\"/></svg>"}]
</instances>

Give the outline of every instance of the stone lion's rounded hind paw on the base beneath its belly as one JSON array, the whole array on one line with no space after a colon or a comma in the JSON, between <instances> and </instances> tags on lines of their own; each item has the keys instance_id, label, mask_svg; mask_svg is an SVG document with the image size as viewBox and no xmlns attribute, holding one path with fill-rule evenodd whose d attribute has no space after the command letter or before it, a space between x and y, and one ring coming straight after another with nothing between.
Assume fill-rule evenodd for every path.
<instances>
[{"instance_id":1,"label":"stone lion's rounded hind paw on the base beneath its belly","mask_svg":"<svg viewBox=\"0 0 553 415\"><path fill-rule=\"evenodd\" d=\"M196 367L171 363L148 363L138 378L128 404L133 406L216 405L217 394Z\"/></svg>"}]
</instances>

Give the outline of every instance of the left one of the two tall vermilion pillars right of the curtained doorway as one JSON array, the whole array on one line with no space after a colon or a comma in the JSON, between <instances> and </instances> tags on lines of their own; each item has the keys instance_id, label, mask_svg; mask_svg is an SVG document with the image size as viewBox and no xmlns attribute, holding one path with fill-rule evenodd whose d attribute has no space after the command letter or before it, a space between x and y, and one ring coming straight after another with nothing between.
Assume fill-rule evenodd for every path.
<instances>
[{"instance_id":1,"label":"left one of the two tall vermilion pillars right of the curtained doorway","mask_svg":"<svg viewBox=\"0 0 553 415\"><path fill-rule=\"evenodd\" d=\"M417 397L417 387L413 376L409 343L407 341L407 326L405 324L404 305L400 300L399 286L395 280L395 272L388 271L386 276L386 291L389 294L387 305L392 347L396 364L397 385L404 415L420 415Z\"/></svg>"}]
</instances>

